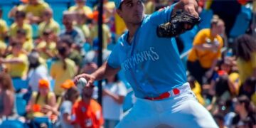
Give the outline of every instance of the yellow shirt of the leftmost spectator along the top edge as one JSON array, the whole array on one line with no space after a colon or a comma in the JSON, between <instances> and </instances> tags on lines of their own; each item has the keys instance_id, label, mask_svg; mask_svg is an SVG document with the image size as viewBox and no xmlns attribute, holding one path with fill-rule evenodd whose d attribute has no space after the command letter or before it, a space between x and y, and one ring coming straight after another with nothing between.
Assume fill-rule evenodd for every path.
<instances>
[{"instance_id":1,"label":"yellow shirt of the leftmost spectator along the top edge","mask_svg":"<svg viewBox=\"0 0 256 128\"><path fill-rule=\"evenodd\" d=\"M36 6L31 4L26 4L23 6L22 11L25 11L27 14L31 13L33 16L41 17L43 16L43 11L49 8L49 5L46 2L39 1L39 4Z\"/></svg>"}]
</instances>

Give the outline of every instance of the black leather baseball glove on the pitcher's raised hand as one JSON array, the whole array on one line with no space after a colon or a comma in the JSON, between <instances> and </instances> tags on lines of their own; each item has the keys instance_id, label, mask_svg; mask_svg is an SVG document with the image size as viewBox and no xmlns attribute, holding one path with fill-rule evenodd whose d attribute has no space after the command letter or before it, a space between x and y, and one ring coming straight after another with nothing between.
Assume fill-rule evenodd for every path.
<instances>
[{"instance_id":1,"label":"black leather baseball glove on the pitcher's raised hand","mask_svg":"<svg viewBox=\"0 0 256 128\"><path fill-rule=\"evenodd\" d=\"M178 36L179 34L192 29L196 23L200 22L200 20L200 17L196 18L183 10L178 10L174 16L171 16L171 20L169 22L163 23L157 27L156 33L157 36L161 38L171 38ZM190 25L191 28L186 29L185 24Z\"/></svg>"}]
</instances>

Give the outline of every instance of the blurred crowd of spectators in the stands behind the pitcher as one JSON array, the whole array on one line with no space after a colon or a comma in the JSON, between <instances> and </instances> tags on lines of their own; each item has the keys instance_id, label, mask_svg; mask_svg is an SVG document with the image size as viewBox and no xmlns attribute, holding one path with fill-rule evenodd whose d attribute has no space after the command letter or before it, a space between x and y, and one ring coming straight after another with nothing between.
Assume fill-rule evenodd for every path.
<instances>
[{"instance_id":1,"label":"blurred crowd of spectators in the stands behind the pitcher","mask_svg":"<svg viewBox=\"0 0 256 128\"><path fill-rule=\"evenodd\" d=\"M103 80L102 105L97 102L97 83L82 89L75 86L75 75L97 70L100 48L97 4L74 1L68 10L53 12L54 6L47 1L21 0L9 11L10 26L1 18L5 10L0 8L1 125L10 126L14 123L8 124L8 120L17 120L26 127L111 128L132 107L136 98L129 95L132 90L122 73ZM126 27L114 2L103 2L105 61ZM174 2L144 1L145 13ZM221 8L224 4L233 9ZM251 17L242 26L245 32L234 36L230 31L240 27L235 26L235 19L244 8ZM176 37L180 53L187 53L182 59L198 102L219 127L256 127L256 1L202 0L198 12L201 23L208 21L203 13L213 12L208 26L199 23L188 31L194 33L191 40ZM62 15L61 22L55 21L53 13Z\"/></svg>"}]
</instances>

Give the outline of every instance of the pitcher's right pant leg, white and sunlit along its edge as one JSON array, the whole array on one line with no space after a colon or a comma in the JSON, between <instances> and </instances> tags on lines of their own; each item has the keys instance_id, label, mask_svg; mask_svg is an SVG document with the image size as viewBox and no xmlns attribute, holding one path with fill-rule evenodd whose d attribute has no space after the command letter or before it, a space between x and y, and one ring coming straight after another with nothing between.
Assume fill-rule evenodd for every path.
<instances>
[{"instance_id":1,"label":"pitcher's right pant leg, white and sunlit along its edge","mask_svg":"<svg viewBox=\"0 0 256 128\"><path fill-rule=\"evenodd\" d=\"M191 91L191 90L190 90ZM210 112L196 100L193 92L188 91L170 102L169 110L161 114L162 124L170 127L218 127Z\"/></svg>"}]
</instances>

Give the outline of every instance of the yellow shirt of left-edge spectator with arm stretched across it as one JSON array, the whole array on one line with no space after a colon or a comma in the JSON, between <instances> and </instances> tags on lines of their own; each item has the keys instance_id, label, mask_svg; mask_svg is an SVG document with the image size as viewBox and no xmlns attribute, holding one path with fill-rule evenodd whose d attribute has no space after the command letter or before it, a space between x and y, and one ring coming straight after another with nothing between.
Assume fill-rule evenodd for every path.
<instances>
[{"instance_id":1,"label":"yellow shirt of left-edge spectator with arm stretched across it","mask_svg":"<svg viewBox=\"0 0 256 128\"><path fill-rule=\"evenodd\" d=\"M14 58L18 58L23 61L23 63L7 63L6 68L8 73L12 78L24 78L26 73L28 72L28 57L25 54L19 54L17 57L14 55L8 55L6 60L11 60Z\"/></svg>"}]
</instances>

